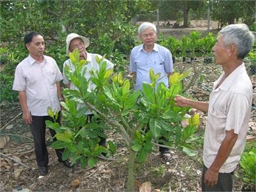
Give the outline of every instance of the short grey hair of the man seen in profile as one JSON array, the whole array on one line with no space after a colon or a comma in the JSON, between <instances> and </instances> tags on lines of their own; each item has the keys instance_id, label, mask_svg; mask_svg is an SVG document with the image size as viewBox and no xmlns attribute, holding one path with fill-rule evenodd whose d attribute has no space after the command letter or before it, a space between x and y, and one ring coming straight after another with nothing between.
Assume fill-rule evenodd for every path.
<instances>
[{"instance_id":1,"label":"short grey hair of the man seen in profile","mask_svg":"<svg viewBox=\"0 0 256 192\"><path fill-rule=\"evenodd\" d=\"M234 44L237 48L237 58L242 59L250 52L255 36L246 24L230 24L221 29L224 46Z\"/></svg>"}]
</instances>

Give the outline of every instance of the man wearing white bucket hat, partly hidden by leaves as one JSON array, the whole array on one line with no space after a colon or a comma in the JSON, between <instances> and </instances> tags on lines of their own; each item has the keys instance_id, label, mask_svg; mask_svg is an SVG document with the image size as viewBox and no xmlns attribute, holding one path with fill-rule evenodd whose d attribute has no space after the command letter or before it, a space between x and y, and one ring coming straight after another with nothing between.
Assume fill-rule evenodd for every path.
<instances>
[{"instance_id":1,"label":"man wearing white bucket hat, partly hidden by leaves","mask_svg":"<svg viewBox=\"0 0 256 192\"><path fill-rule=\"evenodd\" d=\"M89 53L86 51L86 48L90 45L90 41L88 40L88 38L84 37L84 36L80 36L77 35L76 33L70 33L67 36L66 39L67 42L67 56L69 56L70 52L73 52L75 49L78 49L79 53L80 53L80 60L86 60L87 63L86 65L84 65L84 67L86 67L86 72L84 74L84 77L86 77L86 79L89 81L91 74L90 72L93 70L99 70L99 64L96 61L96 56L98 56L100 59L102 58L102 56L100 56L99 54L93 54L93 53ZM111 63L111 61L106 60L105 58L103 58L103 61L107 62L107 69L109 68L113 68L114 65L113 63ZM76 86L74 86L74 84L70 83L70 81L68 81L67 76L65 76L65 67L68 66L70 68L70 70L75 70L74 65L72 64L71 60L68 59L64 62L63 64L63 83L67 86L67 88L70 88L72 90L76 90ZM92 83L92 81L89 82L88 84L88 91L92 91L96 88L96 85ZM83 103L78 103L77 104L77 108L83 108L84 104ZM93 117L93 113L92 111L90 111L89 109L86 111L85 115L88 115L88 120L91 121L92 117ZM106 144L106 139L100 137L100 142L99 145L105 145Z\"/></svg>"}]
</instances>

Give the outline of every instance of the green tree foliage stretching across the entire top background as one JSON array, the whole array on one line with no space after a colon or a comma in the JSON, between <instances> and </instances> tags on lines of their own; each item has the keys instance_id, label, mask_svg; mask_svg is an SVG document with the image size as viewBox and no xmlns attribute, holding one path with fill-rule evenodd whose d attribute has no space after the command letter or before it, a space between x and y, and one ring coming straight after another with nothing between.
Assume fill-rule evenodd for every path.
<instances>
[{"instance_id":1,"label":"green tree foliage stretching across the entire top background","mask_svg":"<svg viewBox=\"0 0 256 192\"><path fill-rule=\"evenodd\" d=\"M1 1L1 65L8 64L1 72L1 100L17 100L17 93L12 92L13 75L16 65L28 55L23 44L28 31L42 33L45 54L52 56L61 70L67 59L65 38L69 33L78 33L90 39L89 52L106 54L116 64L116 71L124 71L132 47L138 44L133 22L140 15L154 15L159 8L161 19L184 20L186 27L189 19L205 19L209 7L212 19L221 26L236 19L255 31L255 3L253 0Z\"/></svg>"}]
</instances>

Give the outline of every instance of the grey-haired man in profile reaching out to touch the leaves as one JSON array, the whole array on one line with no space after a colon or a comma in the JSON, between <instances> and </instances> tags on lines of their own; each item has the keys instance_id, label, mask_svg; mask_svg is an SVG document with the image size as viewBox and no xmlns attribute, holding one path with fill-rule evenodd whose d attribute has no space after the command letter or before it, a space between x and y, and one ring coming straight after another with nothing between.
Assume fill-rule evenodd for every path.
<instances>
[{"instance_id":1,"label":"grey-haired man in profile reaching out to touch the leaves","mask_svg":"<svg viewBox=\"0 0 256 192\"><path fill-rule=\"evenodd\" d=\"M202 191L232 191L232 174L244 150L252 106L252 82L243 58L252 49L254 38L246 24L221 29L212 51L223 74L214 82L209 102L175 98L178 106L208 113Z\"/></svg>"}]
</instances>

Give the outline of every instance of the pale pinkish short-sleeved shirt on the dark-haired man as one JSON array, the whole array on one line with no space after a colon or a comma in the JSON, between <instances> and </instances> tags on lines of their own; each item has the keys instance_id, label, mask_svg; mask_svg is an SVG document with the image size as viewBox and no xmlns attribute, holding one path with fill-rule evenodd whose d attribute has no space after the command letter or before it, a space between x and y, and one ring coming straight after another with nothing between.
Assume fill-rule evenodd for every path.
<instances>
[{"instance_id":1,"label":"pale pinkish short-sleeved shirt on the dark-haired man","mask_svg":"<svg viewBox=\"0 0 256 192\"><path fill-rule=\"evenodd\" d=\"M47 116L47 108L60 111L56 83L63 79L56 61L44 56L37 63L30 55L17 65L13 90L26 92L28 109L33 116Z\"/></svg>"}]
</instances>

